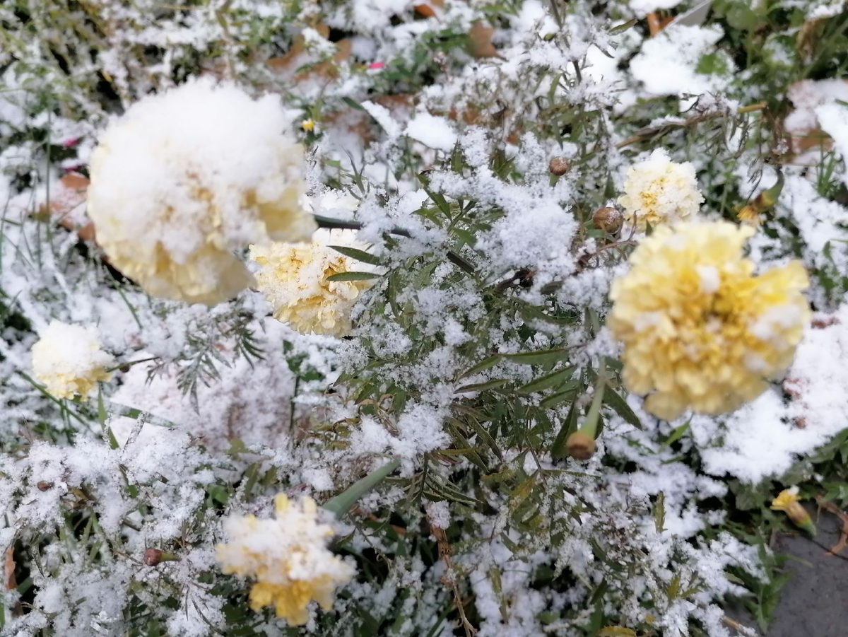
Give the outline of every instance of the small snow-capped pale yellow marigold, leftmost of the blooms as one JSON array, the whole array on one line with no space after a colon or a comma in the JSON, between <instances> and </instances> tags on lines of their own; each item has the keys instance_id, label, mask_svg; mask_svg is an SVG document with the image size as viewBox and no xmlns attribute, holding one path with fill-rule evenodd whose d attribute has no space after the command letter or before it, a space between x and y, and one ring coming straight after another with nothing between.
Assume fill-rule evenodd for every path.
<instances>
[{"instance_id":1,"label":"small snow-capped pale yellow marigold, leftmost of the blooms","mask_svg":"<svg viewBox=\"0 0 848 637\"><path fill-rule=\"evenodd\" d=\"M32 372L57 398L86 397L99 381L109 380L112 360L93 326L51 321L32 346Z\"/></svg>"}]
</instances>

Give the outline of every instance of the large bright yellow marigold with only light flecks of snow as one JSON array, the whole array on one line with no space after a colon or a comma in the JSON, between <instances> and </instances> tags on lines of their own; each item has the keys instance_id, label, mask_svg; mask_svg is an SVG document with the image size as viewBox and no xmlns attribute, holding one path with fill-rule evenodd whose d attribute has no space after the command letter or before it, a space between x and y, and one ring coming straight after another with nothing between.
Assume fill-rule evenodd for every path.
<instances>
[{"instance_id":1,"label":"large bright yellow marigold with only light flecks of snow","mask_svg":"<svg viewBox=\"0 0 848 637\"><path fill-rule=\"evenodd\" d=\"M789 366L809 282L798 261L755 276L742 256L753 233L728 221L658 227L613 282L608 323L624 343L624 382L650 394L655 416L733 411Z\"/></svg>"}]
</instances>

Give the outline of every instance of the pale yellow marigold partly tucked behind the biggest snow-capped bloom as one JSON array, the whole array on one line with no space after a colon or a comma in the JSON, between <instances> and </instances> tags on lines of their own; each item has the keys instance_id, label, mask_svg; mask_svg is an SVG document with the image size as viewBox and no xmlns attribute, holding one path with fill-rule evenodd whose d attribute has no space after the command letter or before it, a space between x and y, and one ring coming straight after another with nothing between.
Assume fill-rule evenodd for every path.
<instances>
[{"instance_id":1,"label":"pale yellow marigold partly tucked behind the biggest snow-capped bloom","mask_svg":"<svg viewBox=\"0 0 848 637\"><path fill-rule=\"evenodd\" d=\"M250 257L259 264L259 291L274 306L274 318L298 332L344 336L351 330L350 312L367 280L328 281L349 271L372 271L367 264L337 252L329 245L365 249L355 231L319 230L312 243L271 243L251 246Z\"/></svg>"}]
</instances>

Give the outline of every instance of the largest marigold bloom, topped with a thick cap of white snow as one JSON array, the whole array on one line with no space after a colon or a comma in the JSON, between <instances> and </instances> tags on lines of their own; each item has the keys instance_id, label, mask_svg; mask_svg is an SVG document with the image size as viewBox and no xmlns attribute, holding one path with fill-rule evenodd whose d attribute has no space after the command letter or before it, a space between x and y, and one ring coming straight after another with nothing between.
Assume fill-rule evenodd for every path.
<instances>
[{"instance_id":1,"label":"largest marigold bloom, topped with a thick cap of white snow","mask_svg":"<svg viewBox=\"0 0 848 637\"><path fill-rule=\"evenodd\" d=\"M143 98L92 153L88 214L112 264L153 296L215 304L251 282L233 254L303 241L303 149L275 96L202 79Z\"/></svg>"}]
</instances>

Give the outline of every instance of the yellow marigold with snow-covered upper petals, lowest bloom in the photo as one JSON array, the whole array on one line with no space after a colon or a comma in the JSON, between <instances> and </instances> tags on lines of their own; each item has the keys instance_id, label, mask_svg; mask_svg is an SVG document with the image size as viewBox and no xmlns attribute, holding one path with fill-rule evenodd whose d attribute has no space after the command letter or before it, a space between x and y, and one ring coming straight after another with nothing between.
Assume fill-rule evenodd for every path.
<instances>
[{"instance_id":1,"label":"yellow marigold with snow-covered upper petals, lowest bloom in the photo","mask_svg":"<svg viewBox=\"0 0 848 637\"><path fill-rule=\"evenodd\" d=\"M217 546L224 573L256 578L249 603L254 611L274 606L276 616L299 626L309 619L310 601L332 607L333 591L354 575L354 568L326 549L333 532L317 520L315 500L293 504L284 494L274 500L276 516L229 517L224 531L229 544Z\"/></svg>"}]
</instances>

